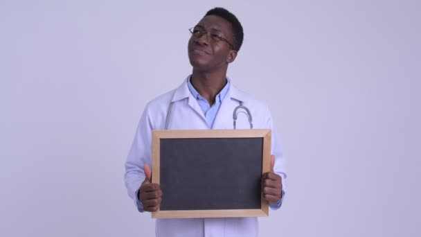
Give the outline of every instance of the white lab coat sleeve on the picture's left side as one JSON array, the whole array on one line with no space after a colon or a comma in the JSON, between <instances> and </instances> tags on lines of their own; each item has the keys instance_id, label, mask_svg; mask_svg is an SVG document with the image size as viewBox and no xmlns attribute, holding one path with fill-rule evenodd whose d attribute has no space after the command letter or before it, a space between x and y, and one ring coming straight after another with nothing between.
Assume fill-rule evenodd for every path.
<instances>
[{"instance_id":1,"label":"white lab coat sleeve on the picture's left side","mask_svg":"<svg viewBox=\"0 0 421 237\"><path fill-rule=\"evenodd\" d=\"M152 168L152 119L150 118L149 110L149 106L147 105L138 123L132 148L130 148L125 162L124 179L127 193L134 200L134 204L140 212L143 212L143 206L137 198L137 192L145 180L143 165L148 164Z\"/></svg>"}]
</instances>

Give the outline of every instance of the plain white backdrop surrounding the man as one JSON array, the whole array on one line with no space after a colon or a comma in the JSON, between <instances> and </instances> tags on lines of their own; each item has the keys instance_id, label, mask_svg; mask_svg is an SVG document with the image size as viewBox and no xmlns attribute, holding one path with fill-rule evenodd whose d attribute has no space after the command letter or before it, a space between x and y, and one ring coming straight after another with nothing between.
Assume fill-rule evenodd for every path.
<instances>
[{"instance_id":1,"label":"plain white backdrop surrounding the man","mask_svg":"<svg viewBox=\"0 0 421 237\"><path fill-rule=\"evenodd\" d=\"M154 236L123 182L188 28L244 26L229 76L265 100L289 193L260 236L421 236L420 1L0 1L0 236Z\"/></svg>"}]
</instances>

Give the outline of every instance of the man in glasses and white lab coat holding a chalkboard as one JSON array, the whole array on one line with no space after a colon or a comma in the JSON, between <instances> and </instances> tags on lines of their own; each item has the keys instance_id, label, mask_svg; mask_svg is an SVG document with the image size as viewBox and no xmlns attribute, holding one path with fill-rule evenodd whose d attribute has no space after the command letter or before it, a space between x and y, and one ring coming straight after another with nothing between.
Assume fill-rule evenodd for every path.
<instances>
[{"instance_id":1,"label":"man in glasses and white lab coat holding a chalkboard","mask_svg":"<svg viewBox=\"0 0 421 237\"><path fill-rule=\"evenodd\" d=\"M285 194L285 165L267 106L236 89L226 78L228 65L240 50L243 31L238 19L224 8L209 10L190 29L188 58L192 74L178 87L150 101L139 121L125 164L125 184L138 211L159 209L163 192L151 183L152 130L233 129L233 111L244 105L253 128L271 129L271 167L262 175L262 192L271 209ZM237 113L237 129L249 129L247 109ZM156 220L156 236L257 236L257 218L184 218Z\"/></svg>"}]
</instances>

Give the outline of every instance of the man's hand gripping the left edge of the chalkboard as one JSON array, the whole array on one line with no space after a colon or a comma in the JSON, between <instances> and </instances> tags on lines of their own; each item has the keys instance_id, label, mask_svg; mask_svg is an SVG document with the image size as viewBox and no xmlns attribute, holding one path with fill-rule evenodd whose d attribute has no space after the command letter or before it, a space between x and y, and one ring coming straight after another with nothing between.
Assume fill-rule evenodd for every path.
<instances>
[{"instance_id":1,"label":"man's hand gripping the left edge of the chalkboard","mask_svg":"<svg viewBox=\"0 0 421 237\"><path fill-rule=\"evenodd\" d=\"M145 211L158 211L161 204L162 191L159 184L152 184L152 172L147 164L143 166L145 172L145 181L139 188L138 199L143 204Z\"/></svg>"}]
</instances>

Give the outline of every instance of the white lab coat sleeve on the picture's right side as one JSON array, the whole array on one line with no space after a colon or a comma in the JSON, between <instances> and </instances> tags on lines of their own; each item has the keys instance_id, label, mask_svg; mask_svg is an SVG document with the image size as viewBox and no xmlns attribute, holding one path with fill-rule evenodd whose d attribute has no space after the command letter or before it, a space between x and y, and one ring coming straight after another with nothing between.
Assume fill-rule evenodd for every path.
<instances>
[{"instance_id":1,"label":"white lab coat sleeve on the picture's right side","mask_svg":"<svg viewBox=\"0 0 421 237\"><path fill-rule=\"evenodd\" d=\"M282 178L282 198L276 204L272 204L269 207L271 209L279 209L282 205L282 202L285 198L285 193L287 193L287 173L286 173L286 164L285 164L285 157L283 157L283 152L280 147L280 140L278 138L278 134L276 132L276 128L274 125L274 120L272 119L271 112L267 107L267 113L269 114L267 119L267 127L271 129L272 138L271 138L271 154L275 156L275 165L274 165L274 172Z\"/></svg>"}]
</instances>

